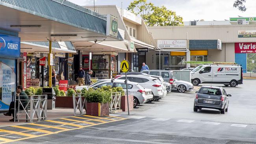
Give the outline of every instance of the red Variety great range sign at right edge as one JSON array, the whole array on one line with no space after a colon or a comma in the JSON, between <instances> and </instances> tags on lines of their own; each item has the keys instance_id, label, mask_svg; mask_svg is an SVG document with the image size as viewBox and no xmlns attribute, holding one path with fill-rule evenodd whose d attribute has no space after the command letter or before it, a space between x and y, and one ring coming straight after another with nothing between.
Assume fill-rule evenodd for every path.
<instances>
[{"instance_id":1,"label":"red Variety great range sign at right edge","mask_svg":"<svg viewBox=\"0 0 256 144\"><path fill-rule=\"evenodd\" d=\"M235 53L256 53L256 42L237 42L235 43Z\"/></svg>"}]
</instances>

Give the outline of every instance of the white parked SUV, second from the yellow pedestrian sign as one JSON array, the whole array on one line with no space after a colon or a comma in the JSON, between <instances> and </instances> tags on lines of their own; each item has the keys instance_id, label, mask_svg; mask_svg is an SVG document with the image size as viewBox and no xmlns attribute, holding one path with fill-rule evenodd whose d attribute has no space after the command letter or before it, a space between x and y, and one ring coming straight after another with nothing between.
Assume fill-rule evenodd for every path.
<instances>
[{"instance_id":1,"label":"white parked SUV, second from the yellow pedestrian sign","mask_svg":"<svg viewBox=\"0 0 256 144\"><path fill-rule=\"evenodd\" d=\"M119 75L116 76L115 79L125 79L125 76ZM142 75L128 75L127 80L139 83L143 88L151 89L153 99L163 98L167 94L164 85L162 85L156 78Z\"/></svg>"}]
</instances>

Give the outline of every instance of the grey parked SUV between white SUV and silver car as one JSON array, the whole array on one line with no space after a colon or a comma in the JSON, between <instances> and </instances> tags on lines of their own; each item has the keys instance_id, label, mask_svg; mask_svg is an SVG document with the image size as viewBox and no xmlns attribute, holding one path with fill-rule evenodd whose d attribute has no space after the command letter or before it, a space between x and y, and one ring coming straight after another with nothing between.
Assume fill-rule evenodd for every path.
<instances>
[{"instance_id":1,"label":"grey parked SUV between white SUV and silver car","mask_svg":"<svg viewBox=\"0 0 256 144\"><path fill-rule=\"evenodd\" d=\"M149 75L161 76L164 81L167 81L172 85L172 89L177 89L174 74L171 70L143 70L141 72Z\"/></svg>"}]
</instances>

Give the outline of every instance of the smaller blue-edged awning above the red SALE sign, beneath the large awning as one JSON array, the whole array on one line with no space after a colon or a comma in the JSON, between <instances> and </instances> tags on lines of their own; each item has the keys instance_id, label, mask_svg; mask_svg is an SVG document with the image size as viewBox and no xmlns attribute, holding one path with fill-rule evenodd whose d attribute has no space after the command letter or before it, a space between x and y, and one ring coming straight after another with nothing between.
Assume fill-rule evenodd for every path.
<instances>
[{"instance_id":1,"label":"smaller blue-edged awning above the red SALE sign, beneath the large awning","mask_svg":"<svg viewBox=\"0 0 256 144\"><path fill-rule=\"evenodd\" d=\"M48 53L49 42L20 42L20 51L27 53ZM52 42L52 52L76 53L76 50L70 41Z\"/></svg>"}]
</instances>

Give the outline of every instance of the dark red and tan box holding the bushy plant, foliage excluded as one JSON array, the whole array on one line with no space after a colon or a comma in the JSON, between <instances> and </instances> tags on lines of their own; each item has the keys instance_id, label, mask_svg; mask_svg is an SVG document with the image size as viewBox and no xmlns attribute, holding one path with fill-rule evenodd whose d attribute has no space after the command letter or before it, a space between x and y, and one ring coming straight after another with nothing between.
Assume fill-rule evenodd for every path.
<instances>
[{"instance_id":1,"label":"dark red and tan box holding the bushy plant, foliage excluded","mask_svg":"<svg viewBox=\"0 0 256 144\"><path fill-rule=\"evenodd\" d=\"M109 103L86 103L86 114L90 116L109 116Z\"/></svg>"}]
</instances>

